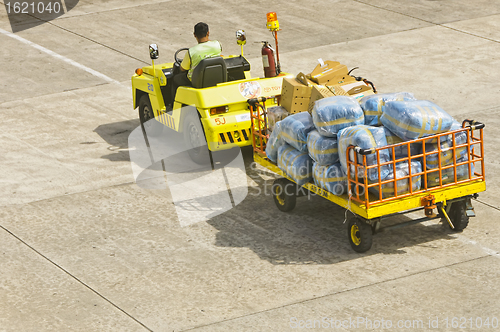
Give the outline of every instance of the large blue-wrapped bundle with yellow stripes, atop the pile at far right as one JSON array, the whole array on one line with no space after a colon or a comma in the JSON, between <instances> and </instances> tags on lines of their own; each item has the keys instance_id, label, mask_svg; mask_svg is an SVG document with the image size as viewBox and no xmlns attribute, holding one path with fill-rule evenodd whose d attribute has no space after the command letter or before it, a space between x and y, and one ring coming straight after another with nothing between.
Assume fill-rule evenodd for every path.
<instances>
[{"instance_id":1,"label":"large blue-wrapped bundle with yellow stripes, atop the pile at far right","mask_svg":"<svg viewBox=\"0 0 500 332\"><path fill-rule=\"evenodd\" d=\"M451 115L428 100L388 101L380 122L403 141L448 131Z\"/></svg>"}]
</instances>

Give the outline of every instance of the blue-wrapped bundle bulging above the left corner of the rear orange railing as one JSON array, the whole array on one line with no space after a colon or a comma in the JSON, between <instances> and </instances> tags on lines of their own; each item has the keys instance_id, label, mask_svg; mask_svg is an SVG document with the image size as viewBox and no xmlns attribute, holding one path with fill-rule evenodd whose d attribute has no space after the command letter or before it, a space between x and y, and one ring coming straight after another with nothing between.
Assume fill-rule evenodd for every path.
<instances>
[{"instance_id":1,"label":"blue-wrapped bundle bulging above the left corner of the rear orange railing","mask_svg":"<svg viewBox=\"0 0 500 332\"><path fill-rule=\"evenodd\" d=\"M339 144L339 159L342 169L347 174L347 157L346 152L349 145L359 146L362 149L372 149L383 147L387 145L387 140L385 138L385 131L383 127L372 127L365 125L357 125L349 128L344 128L338 133L338 144ZM351 150L352 151L352 150ZM379 152L380 162L388 162L391 160L389 150L382 149ZM349 156L351 161L354 161L354 153ZM362 164L363 156L357 155L358 164ZM377 165L377 153L371 153L366 156L367 166ZM352 167L352 166L351 166ZM378 181L378 168L380 168L380 176L384 179L389 174L389 165L382 165L379 167L370 168L368 171L368 179L370 181ZM360 168L358 168L358 178L364 177L364 174L360 174ZM355 170L354 167L351 168L351 176L354 177Z\"/></svg>"}]
</instances>

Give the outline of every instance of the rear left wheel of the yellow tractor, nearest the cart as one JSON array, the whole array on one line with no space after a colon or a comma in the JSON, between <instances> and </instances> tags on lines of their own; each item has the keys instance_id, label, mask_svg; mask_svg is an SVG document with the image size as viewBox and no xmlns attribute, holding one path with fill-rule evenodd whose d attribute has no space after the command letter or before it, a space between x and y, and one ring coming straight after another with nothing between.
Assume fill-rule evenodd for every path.
<instances>
[{"instance_id":1,"label":"rear left wheel of the yellow tractor, nearest the cart","mask_svg":"<svg viewBox=\"0 0 500 332\"><path fill-rule=\"evenodd\" d=\"M190 112L184 118L184 144L188 151L189 157L199 164L210 164L210 153L208 151L205 132L201 126L200 118L197 112Z\"/></svg>"}]
</instances>

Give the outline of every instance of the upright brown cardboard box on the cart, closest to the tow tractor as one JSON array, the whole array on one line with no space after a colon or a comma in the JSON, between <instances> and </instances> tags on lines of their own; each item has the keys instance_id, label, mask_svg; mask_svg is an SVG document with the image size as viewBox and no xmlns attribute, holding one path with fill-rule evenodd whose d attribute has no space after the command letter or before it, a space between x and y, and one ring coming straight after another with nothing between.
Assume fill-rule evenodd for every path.
<instances>
[{"instance_id":1,"label":"upright brown cardboard box on the cart, closest to the tow tractor","mask_svg":"<svg viewBox=\"0 0 500 332\"><path fill-rule=\"evenodd\" d=\"M312 86L304 85L295 78L285 77L281 88L281 106L289 113L307 111Z\"/></svg>"}]
</instances>

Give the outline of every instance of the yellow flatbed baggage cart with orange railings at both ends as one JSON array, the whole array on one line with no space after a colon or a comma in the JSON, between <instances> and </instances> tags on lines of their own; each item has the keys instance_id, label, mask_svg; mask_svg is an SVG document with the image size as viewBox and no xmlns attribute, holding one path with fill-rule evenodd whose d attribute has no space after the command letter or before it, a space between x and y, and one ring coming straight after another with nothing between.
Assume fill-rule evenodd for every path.
<instances>
[{"instance_id":1,"label":"yellow flatbed baggage cart with orange railings at both ends","mask_svg":"<svg viewBox=\"0 0 500 332\"><path fill-rule=\"evenodd\" d=\"M268 170L279 174L281 178L274 181L272 187L273 199L279 210L288 212L294 209L297 197L300 197L299 186L295 181L285 174L277 164L269 160L266 156L265 147L269 139L268 122L265 109L265 98L249 99L249 109L251 118L251 133L253 158L256 163ZM372 236L378 232L421 223L436 217L444 219L454 231L462 231L467 227L469 217L475 217L474 208L471 199L477 198L478 193L486 190L484 173L484 144L483 144L484 124L465 120L462 128L448 131L432 136L402 142L398 144L387 145L375 149L361 149L356 146L350 146L347 151L347 181L348 194L340 196L316 186L312 181L302 186L305 190L315 193L349 211L347 214L347 237L351 247L357 252L365 252L371 248ZM462 133L463 132L463 133ZM457 135L466 134L466 143L457 144ZM448 136L453 142L452 146L443 148L441 142L444 142ZM411 144L422 144L420 154L410 155ZM437 150L425 151L426 144L434 143ZM403 146L408 149L408 157L380 162L380 152L384 149L390 149L394 154L396 148ZM460 150L462 149L462 150ZM464 153L466 149L466 158L464 161L457 161L459 152ZM443 153L451 153L451 163L443 164L441 158ZM377 163L375 165L367 164L367 155L376 154ZM431 155L438 158L435 169L427 169L426 161ZM351 158L349 158L351 156ZM418 159L422 163L422 170L418 173L409 172L409 175L403 177L394 176L393 179L384 180L380 176L380 168L384 165L390 165L396 170L396 163L407 161L411 164L412 160ZM462 158L463 159L463 158ZM411 167L411 166L410 166ZM459 176L457 169L465 167L468 174ZM378 181L368 181L367 177L360 177L359 174L367 174L369 170L378 172ZM444 174L451 174L445 178ZM396 172L394 172L396 174ZM437 175L437 176L436 176ZM413 190L412 178L420 176L421 188ZM437 183L428 183L428 178L434 176ZM408 191L397 192L397 181L408 180ZM392 182L392 183L391 183ZM392 184L394 194L389 197L383 197L382 186ZM294 186L295 190L286 190L286 186ZM369 188L378 188L378 195L370 192ZM303 193L302 193L303 195ZM391 226L383 226L382 221L388 217L406 214L417 210L424 210L425 216L419 219L411 219ZM437 214L434 212L437 210Z\"/></svg>"}]
</instances>

